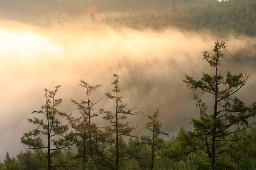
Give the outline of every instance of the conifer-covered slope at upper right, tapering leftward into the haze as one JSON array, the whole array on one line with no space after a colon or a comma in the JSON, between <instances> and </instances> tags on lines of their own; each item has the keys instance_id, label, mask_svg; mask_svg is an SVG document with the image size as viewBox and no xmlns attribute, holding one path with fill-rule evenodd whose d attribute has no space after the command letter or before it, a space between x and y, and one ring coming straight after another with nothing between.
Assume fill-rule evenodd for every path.
<instances>
[{"instance_id":1,"label":"conifer-covered slope at upper right, tapering leftward into the haze","mask_svg":"<svg viewBox=\"0 0 256 170\"><path fill-rule=\"evenodd\" d=\"M208 0L197 5L177 3L177 10L169 9L142 10L136 13L109 16L103 22L115 27L133 29L163 30L176 27L187 31L212 32L227 34L256 35L255 0Z\"/></svg>"}]
</instances>

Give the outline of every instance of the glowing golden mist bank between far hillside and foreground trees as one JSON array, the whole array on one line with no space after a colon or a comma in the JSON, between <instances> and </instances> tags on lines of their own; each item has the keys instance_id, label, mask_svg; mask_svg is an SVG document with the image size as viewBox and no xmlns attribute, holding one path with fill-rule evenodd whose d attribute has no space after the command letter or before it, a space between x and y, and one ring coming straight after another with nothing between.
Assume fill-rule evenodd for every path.
<instances>
[{"instance_id":1,"label":"glowing golden mist bank between far hillside and foreground trees","mask_svg":"<svg viewBox=\"0 0 256 170\"><path fill-rule=\"evenodd\" d=\"M44 104L44 88L62 85L57 95L63 99L60 110L75 115L70 98L80 100L85 95L79 81L103 85L93 96L96 99L112 92L114 73L120 76L123 101L144 113L128 118L131 125L140 125L137 131L143 134L146 115L160 109L165 132L176 135L182 124L189 127L190 119L198 115L184 75L200 78L203 72L212 73L202 52L211 53L216 41L213 35L175 29L113 30L101 24L90 29L75 25L37 28L0 20L0 161L7 151L15 155L22 149L20 137L33 127L27 118ZM221 59L222 73L254 73L239 96L247 104L256 101L256 38L228 36L223 41L228 47ZM233 58L241 51L249 57ZM104 99L98 108L112 109L112 105ZM94 121L105 124L101 118Z\"/></svg>"}]
</instances>

